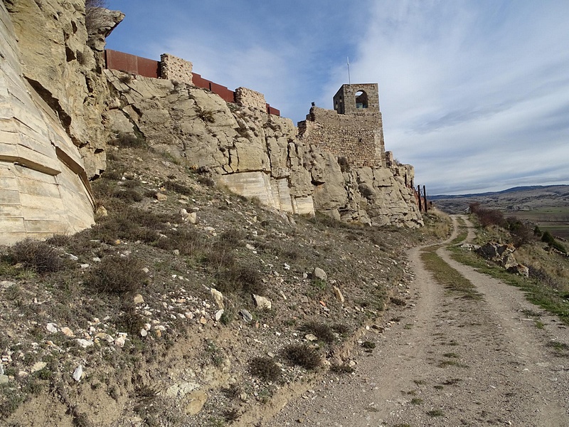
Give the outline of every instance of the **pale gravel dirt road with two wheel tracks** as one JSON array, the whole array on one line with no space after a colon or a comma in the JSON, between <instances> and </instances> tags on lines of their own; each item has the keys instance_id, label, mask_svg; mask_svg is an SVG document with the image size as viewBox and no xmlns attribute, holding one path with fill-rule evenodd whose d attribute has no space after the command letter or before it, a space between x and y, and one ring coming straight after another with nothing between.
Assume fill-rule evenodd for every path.
<instances>
[{"instance_id":1,"label":"pale gravel dirt road with two wheel tracks","mask_svg":"<svg viewBox=\"0 0 569 427\"><path fill-rule=\"evenodd\" d=\"M328 374L263 426L569 426L569 359L551 345L569 344L569 330L440 248L483 298L448 292L420 251L409 252L408 305L363 337L376 348L356 350L356 372Z\"/></svg>"}]
</instances>

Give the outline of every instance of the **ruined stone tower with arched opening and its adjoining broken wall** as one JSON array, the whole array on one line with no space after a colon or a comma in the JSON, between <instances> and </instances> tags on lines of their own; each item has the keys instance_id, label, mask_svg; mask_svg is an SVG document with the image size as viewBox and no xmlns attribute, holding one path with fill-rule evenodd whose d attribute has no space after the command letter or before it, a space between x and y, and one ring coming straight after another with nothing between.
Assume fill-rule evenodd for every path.
<instances>
[{"instance_id":1,"label":"ruined stone tower with arched opening and its adjoining broken wall","mask_svg":"<svg viewBox=\"0 0 569 427\"><path fill-rule=\"evenodd\" d=\"M298 123L299 137L356 167L385 167L383 123L377 83L342 85L334 110L312 106Z\"/></svg>"}]
</instances>

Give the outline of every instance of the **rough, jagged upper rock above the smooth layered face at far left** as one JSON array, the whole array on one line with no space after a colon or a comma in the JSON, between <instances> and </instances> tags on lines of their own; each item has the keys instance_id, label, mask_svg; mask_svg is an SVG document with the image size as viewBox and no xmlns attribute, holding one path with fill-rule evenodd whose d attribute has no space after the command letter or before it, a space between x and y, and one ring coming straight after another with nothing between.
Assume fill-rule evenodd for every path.
<instances>
[{"instance_id":1,"label":"rough, jagged upper rock above the smooth layered face at far left","mask_svg":"<svg viewBox=\"0 0 569 427\"><path fill-rule=\"evenodd\" d=\"M87 176L105 170L107 134L101 122L109 97L102 75L105 36L120 12L95 14L85 27L84 0L5 2L14 26L23 78L58 117L85 159ZM92 47L90 47L92 46Z\"/></svg>"}]
</instances>

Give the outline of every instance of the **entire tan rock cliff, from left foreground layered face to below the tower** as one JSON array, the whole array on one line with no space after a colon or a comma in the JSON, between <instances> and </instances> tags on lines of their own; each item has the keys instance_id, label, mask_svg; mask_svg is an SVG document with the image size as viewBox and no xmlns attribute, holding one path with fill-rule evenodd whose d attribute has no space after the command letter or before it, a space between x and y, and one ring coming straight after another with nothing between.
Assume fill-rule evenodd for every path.
<instances>
[{"instance_id":1,"label":"entire tan rock cliff, from left foreground layered face to below the tower","mask_svg":"<svg viewBox=\"0 0 569 427\"><path fill-rule=\"evenodd\" d=\"M86 22L84 0L0 2L0 243L93 223L89 180L106 168L110 131L142 135L281 211L422 224L396 171L340 167L291 120L185 83L104 72L105 37L123 17L97 9Z\"/></svg>"}]
</instances>

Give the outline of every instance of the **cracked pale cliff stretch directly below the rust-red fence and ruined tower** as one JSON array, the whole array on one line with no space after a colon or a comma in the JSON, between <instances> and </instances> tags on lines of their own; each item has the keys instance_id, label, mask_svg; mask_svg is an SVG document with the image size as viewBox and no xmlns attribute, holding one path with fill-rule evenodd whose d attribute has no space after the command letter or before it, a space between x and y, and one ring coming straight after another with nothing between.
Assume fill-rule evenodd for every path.
<instances>
[{"instance_id":1,"label":"cracked pale cliff stretch directly below the rust-red fence and ruined tower","mask_svg":"<svg viewBox=\"0 0 569 427\"><path fill-rule=\"evenodd\" d=\"M413 190L393 169L341 167L333 154L299 140L291 120L228 104L207 90L106 73L115 97L106 124L115 135L143 135L154 149L209 169L229 189L282 211L422 225Z\"/></svg>"}]
</instances>

